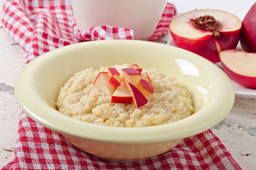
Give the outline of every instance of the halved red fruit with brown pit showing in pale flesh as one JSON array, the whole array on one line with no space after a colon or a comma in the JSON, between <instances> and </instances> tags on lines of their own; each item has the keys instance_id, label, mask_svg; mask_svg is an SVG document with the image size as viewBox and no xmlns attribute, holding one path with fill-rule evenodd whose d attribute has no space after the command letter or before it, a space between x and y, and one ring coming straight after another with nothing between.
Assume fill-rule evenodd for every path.
<instances>
[{"instance_id":1,"label":"halved red fruit with brown pit showing in pale flesh","mask_svg":"<svg viewBox=\"0 0 256 170\"><path fill-rule=\"evenodd\" d=\"M220 61L220 51L236 48L241 27L240 19L231 13L200 9L174 18L170 32L177 47L217 63Z\"/></svg>"}]
</instances>

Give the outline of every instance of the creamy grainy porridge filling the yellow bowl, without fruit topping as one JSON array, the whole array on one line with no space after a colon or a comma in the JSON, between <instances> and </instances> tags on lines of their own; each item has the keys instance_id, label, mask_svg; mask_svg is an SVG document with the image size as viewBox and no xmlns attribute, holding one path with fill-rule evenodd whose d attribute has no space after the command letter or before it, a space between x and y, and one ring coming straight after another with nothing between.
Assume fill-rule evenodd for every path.
<instances>
[{"instance_id":1,"label":"creamy grainy porridge filling the yellow bowl, without fruit topping","mask_svg":"<svg viewBox=\"0 0 256 170\"><path fill-rule=\"evenodd\" d=\"M56 107L59 112L80 121L117 127L144 127L171 123L194 113L193 100L181 83L156 69L143 69L150 77L153 94L148 102L136 107L134 103L111 103L94 87L99 70L84 69L74 74L61 88Z\"/></svg>"}]
</instances>

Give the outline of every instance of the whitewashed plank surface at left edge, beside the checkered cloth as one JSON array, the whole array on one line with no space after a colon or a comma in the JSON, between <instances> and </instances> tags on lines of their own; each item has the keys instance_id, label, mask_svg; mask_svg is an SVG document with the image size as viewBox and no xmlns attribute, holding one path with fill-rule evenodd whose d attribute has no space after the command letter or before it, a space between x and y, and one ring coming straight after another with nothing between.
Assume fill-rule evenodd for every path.
<instances>
[{"instance_id":1,"label":"whitewashed plank surface at left edge, beside the checkered cloth","mask_svg":"<svg viewBox=\"0 0 256 170\"><path fill-rule=\"evenodd\" d=\"M2 0L0 9L2 13ZM0 168L14 158L20 107L13 87L23 63L23 49L4 31L0 22Z\"/></svg>"}]
</instances>

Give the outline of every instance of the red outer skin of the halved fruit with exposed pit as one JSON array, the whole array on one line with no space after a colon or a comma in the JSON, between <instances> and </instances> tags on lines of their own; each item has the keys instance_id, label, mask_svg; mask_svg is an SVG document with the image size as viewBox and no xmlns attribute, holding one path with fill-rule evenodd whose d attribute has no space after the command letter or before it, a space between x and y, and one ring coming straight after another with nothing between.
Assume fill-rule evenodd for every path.
<instances>
[{"instance_id":1,"label":"red outer skin of the halved fruit with exposed pit","mask_svg":"<svg viewBox=\"0 0 256 170\"><path fill-rule=\"evenodd\" d=\"M218 38L212 35L207 35L202 38L189 39L177 36L171 31L171 36L177 47L189 50L213 63L218 63L220 61L220 51L236 48L240 39L240 34L241 28L236 31L220 32L220 37Z\"/></svg>"}]
</instances>

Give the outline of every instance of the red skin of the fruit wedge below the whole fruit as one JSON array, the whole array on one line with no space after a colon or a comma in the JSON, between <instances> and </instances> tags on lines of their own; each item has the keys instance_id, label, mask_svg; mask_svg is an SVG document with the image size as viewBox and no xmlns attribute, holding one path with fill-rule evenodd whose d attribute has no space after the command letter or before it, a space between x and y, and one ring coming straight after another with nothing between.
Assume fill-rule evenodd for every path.
<instances>
[{"instance_id":1,"label":"red skin of the fruit wedge below the whole fruit","mask_svg":"<svg viewBox=\"0 0 256 170\"><path fill-rule=\"evenodd\" d=\"M224 63L221 62L223 71L236 83L249 88L256 88L256 77L249 77L237 74L229 69Z\"/></svg>"}]
</instances>

